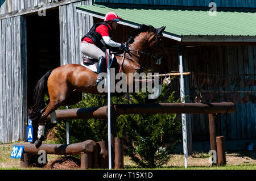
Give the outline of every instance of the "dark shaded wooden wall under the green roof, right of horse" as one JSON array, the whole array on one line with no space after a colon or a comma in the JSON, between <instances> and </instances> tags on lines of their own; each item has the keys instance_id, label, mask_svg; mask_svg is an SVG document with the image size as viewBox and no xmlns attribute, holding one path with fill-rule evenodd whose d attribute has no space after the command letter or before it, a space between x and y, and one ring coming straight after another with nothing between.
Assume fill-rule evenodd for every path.
<instances>
[{"instance_id":1,"label":"dark shaded wooden wall under the green roof, right of horse","mask_svg":"<svg viewBox=\"0 0 256 181\"><path fill-rule=\"evenodd\" d=\"M163 72L179 71L176 49L168 48L168 44L165 46L167 46L168 61L164 63L165 69ZM256 91L255 83L254 86L246 86L247 78L251 81L256 79L256 46L233 45L185 48L184 59L187 59L188 71L193 71L196 78L193 79L192 75L188 76L191 102L195 102L195 97L198 95L195 90L233 91L232 93L214 93L212 102L232 102L231 94L241 95L241 98L245 94L256 96L255 92L241 94L236 92ZM236 82L238 77L241 78L241 81ZM206 81L203 84L204 78ZM209 86L208 78L213 81L213 86ZM201 80L199 81L199 79ZM228 84L224 86L226 79ZM199 86L197 89L195 81L203 86ZM171 86L172 90L177 91L176 96L179 98L179 77L174 79ZM201 95L205 94L201 93ZM210 101L207 100L207 102ZM191 120L193 141L209 140L208 115L191 115ZM217 123L218 135L223 135L228 140L256 138L255 102L253 103L251 99L248 103L238 100L236 112L229 115L218 115Z\"/></svg>"}]
</instances>

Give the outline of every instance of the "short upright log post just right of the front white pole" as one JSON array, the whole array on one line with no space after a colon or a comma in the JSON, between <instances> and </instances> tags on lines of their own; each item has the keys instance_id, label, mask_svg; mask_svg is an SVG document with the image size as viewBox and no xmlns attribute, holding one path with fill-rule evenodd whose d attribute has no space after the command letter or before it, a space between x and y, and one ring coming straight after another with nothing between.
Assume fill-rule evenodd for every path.
<instances>
[{"instance_id":1,"label":"short upright log post just right of the front white pole","mask_svg":"<svg viewBox=\"0 0 256 181\"><path fill-rule=\"evenodd\" d=\"M115 169L123 169L123 138L115 137Z\"/></svg>"}]
</instances>

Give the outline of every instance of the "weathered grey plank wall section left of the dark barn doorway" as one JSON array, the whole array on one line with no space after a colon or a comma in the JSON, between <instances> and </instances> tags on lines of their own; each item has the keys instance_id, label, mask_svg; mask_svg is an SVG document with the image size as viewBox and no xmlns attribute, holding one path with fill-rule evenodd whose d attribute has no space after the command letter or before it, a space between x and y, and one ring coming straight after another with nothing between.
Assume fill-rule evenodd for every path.
<instances>
[{"instance_id":1,"label":"weathered grey plank wall section left of the dark barn doorway","mask_svg":"<svg viewBox=\"0 0 256 181\"><path fill-rule=\"evenodd\" d=\"M0 20L0 142L23 139L22 18Z\"/></svg>"}]
</instances>

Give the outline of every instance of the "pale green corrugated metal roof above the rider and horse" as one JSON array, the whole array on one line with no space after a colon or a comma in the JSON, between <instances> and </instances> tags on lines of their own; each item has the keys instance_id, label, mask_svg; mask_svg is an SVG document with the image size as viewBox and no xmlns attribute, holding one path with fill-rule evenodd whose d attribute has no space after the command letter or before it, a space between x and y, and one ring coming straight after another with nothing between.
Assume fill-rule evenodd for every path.
<instances>
[{"instance_id":1,"label":"pale green corrugated metal roof above the rider and horse","mask_svg":"<svg viewBox=\"0 0 256 181\"><path fill-rule=\"evenodd\" d=\"M179 10L140 5L77 6L77 10L104 17L114 11L121 23L148 24L156 28L166 26L164 32L182 36L256 36L256 13L218 11L210 16L208 10Z\"/></svg>"}]
</instances>

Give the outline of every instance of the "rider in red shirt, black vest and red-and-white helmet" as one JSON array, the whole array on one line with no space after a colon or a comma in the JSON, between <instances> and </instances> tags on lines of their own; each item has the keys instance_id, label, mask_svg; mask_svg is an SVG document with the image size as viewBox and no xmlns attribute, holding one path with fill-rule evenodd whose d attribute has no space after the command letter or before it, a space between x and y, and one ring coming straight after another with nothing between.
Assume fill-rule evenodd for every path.
<instances>
[{"instance_id":1,"label":"rider in red shirt, black vest and red-and-white helmet","mask_svg":"<svg viewBox=\"0 0 256 181\"><path fill-rule=\"evenodd\" d=\"M116 30L117 22L122 19L115 12L108 12L105 15L103 23L96 23L90 28L90 31L82 37L81 52L86 56L98 60L96 86L102 81L103 77L99 75L106 72L106 54L103 49L110 47L121 47L128 50L123 43L116 43L112 38L112 30Z\"/></svg>"}]
</instances>

